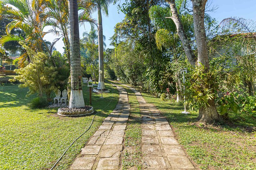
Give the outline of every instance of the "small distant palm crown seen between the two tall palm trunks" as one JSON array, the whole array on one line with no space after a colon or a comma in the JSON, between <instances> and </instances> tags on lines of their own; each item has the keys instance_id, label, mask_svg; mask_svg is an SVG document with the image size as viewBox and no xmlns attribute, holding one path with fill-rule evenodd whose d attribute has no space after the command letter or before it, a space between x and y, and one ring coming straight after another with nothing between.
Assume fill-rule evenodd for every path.
<instances>
[{"instance_id":1,"label":"small distant palm crown seen between the two tall palm trunks","mask_svg":"<svg viewBox=\"0 0 256 170\"><path fill-rule=\"evenodd\" d=\"M106 43L104 42L106 40L106 36L103 35L103 46L106 47ZM87 31L83 32L83 42L89 42L92 44L98 44L98 31L94 28L90 30L89 33Z\"/></svg>"}]
</instances>

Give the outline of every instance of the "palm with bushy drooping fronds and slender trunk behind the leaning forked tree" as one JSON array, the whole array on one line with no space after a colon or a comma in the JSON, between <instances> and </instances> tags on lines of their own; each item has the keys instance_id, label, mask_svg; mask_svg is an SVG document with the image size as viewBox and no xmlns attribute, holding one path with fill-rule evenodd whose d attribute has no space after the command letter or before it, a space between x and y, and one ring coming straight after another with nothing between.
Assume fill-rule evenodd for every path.
<instances>
[{"instance_id":1,"label":"palm with bushy drooping fronds and slender trunk behind the leaning forked tree","mask_svg":"<svg viewBox=\"0 0 256 170\"><path fill-rule=\"evenodd\" d=\"M186 32L193 32L193 17L188 14L183 8L184 0L176 0L176 7ZM162 46L166 49L170 49L173 55L173 61L175 62L175 78L176 78L176 91L177 91L177 102L182 100L180 95L181 86L181 75L179 56L182 51L178 47L181 46L180 38L177 35L177 29L173 20L166 20L166 17L170 17L170 7L152 6L149 9L149 17L153 21L153 24L157 28L155 35L156 44L158 49L162 50ZM188 34L189 35L189 34Z\"/></svg>"}]
</instances>

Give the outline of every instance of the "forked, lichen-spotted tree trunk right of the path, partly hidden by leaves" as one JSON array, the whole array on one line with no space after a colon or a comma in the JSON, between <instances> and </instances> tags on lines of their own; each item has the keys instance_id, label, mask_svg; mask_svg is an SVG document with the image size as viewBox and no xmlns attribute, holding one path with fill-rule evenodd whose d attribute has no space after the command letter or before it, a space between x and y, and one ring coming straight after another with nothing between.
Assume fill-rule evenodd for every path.
<instances>
[{"instance_id":1,"label":"forked, lichen-spotted tree trunk right of the path, partly hidden by leaves","mask_svg":"<svg viewBox=\"0 0 256 170\"><path fill-rule=\"evenodd\" d=\"M171 18L173 19L173 22L177 27L177 32L181 39L188 61L190 62L191 65L196 65L200 63L203 64L207 68L207 70L205 71L208 72L209 59L208 59L206 34L205 34L205 28L204 28L204 10L205 10L205 5L207 0L192 0L194 33L195 33L197 48L198 48L197 62L196 62L195 54L192 51L192 48L189 44L189 40L186 36L183 25L179 18L178 11L175 6L175 0L167 0L167 1L170 5L171 12L172 12ZM198 119L206 121L207 123L218 121L219 114L217 112L214 100L209 100L208 104L209 106L206 105L206 108L199 109Z\"/></svg>"}]
</instances>

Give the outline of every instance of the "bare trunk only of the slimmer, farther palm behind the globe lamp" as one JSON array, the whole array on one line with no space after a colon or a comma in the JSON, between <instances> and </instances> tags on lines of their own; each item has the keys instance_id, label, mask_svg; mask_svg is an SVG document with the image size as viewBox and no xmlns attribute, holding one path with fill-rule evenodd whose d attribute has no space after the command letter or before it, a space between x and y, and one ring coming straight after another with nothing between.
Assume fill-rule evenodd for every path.
<instances>
[{"instance_id":1,"label":"bare trunk only of the slimmer, farther palm behind the globe lamp","mask_svg":"<svg viewBox=\"0 0 256 170\"><path fill-rule=\"evenodd\" d=\"M98 46L99 46L99 70L102 70L97 89L105 89L104 83L104 56L103 56L103 28L102 28L102 16L101 6L98 4Z\"/></svg>"}]
</instances>

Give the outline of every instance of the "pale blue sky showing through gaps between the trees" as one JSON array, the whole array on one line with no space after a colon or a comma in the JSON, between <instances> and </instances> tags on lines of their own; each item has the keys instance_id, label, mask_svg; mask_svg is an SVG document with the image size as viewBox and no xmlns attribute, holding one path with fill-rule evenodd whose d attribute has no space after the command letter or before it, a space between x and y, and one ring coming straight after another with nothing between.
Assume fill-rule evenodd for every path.
<instances>
[{"instance_id":1,"label":"pale blue sky showing through gaps between the trees","mask_svg":"<svg viewBox=\"0 0 256 170\"><path fill-rule=\"evenodd\" d=\"M122 0L123 2L123 0ZM217 6L214 12L210 12L209 14L211 17L217 19L220 22L222 19L227 17L242 17L245 19L252 19L256 21L256 3L255 0L212 0L212 6ZM93 14L93 17L97 19L97 13ZM109 45L110 40L109 38L112 37L114 34L114 27L118 22L121 22L124 18L124 14L119 11L116 5L109 6L109 17L103 16L103 34L106 36L106 45L107 48L113 48ZM83 32L90 31L91 26L90 24L85 24L84 26L80 27L80 37L82 37ZM51 34L45 35L45 39L48 41L53 41L56 37ZM62 40L59 40L55 47L61 53L64 51L63 47L64 44Z\"/></svg>"}]
</instances>

